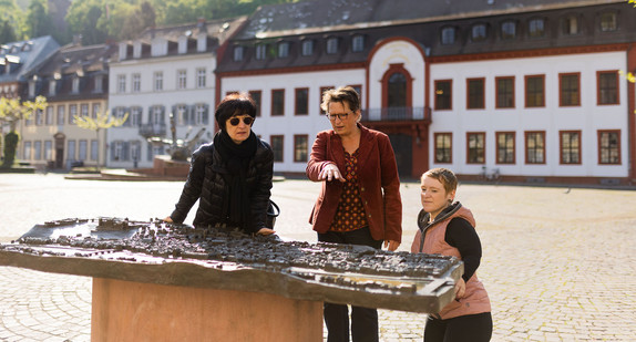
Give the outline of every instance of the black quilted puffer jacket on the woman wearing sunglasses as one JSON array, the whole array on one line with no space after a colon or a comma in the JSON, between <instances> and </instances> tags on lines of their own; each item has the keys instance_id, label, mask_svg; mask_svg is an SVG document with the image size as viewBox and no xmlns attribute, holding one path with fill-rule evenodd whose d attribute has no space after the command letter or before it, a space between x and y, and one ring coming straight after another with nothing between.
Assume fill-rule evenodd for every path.
<instances>
[{"instance_id":1,"label":"black quilted puffer jacket on the woman wearing sunglasses","mask_svg":"<svg viewBox=\"0 0 636 342\"><path fill-rule=\"evenodd\" d=\"M223 216L224 198L228 196L226 162L215 151L214 144L205 144L194 152L189 174L183 187L181 198L171 214L173 221L181 224L197 199L198 209L194 218L195 227L214 226L226 222ZM239 227L245 232L256 232L265 227L265 217L269 206L271 177L274 175L274 153L269 144L257 139L256 153L247 167L246 183L252 206L250 227Z\"/></svg>"}]
</instances>

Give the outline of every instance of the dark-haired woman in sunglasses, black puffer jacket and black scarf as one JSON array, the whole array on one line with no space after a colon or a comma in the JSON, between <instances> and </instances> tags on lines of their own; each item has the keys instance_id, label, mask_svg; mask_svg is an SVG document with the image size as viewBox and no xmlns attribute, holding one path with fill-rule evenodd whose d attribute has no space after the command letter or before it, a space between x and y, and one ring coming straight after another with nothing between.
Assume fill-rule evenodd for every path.
<instances>
[{"instance_id":1,"label":"dark-haired woman in sunglasses, black puffer jacket and black scarf","mask_svg":"<svg viewBox=\"0 0 636 342\"><path fill-rule=\"evenodd\" d=\"M215 118L220 131L194 152L181 198L165 221L183 222L199 200L195 227L275 232L265 227L274 153L252 132L255 117L256 105L246 95L230 94L218 104Z\"/></svg>"}]
</instances>

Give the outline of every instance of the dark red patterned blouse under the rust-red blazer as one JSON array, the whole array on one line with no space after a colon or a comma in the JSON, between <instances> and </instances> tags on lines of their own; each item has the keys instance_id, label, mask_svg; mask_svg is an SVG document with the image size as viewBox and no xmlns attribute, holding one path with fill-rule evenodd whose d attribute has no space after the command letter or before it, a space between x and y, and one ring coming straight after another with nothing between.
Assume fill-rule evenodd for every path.
<instances>
[{"instance_id":1,"label":"dark red patterned blouse under the rust-red blazer","mask_svg":"<svg viewBox=\"0 0 636 342\"><path fill-rule=\"evenodd\" d=\"M331 227L329 227L331 231L351 231L369 226L365 214L365 206L360 197L358 174L356 173L358 168L357 149L352 155L345 151L345 165L343 176L347 182L345 182L342 195L340 195L336 216L334 217Z\"/></svg>"}]
</instances>

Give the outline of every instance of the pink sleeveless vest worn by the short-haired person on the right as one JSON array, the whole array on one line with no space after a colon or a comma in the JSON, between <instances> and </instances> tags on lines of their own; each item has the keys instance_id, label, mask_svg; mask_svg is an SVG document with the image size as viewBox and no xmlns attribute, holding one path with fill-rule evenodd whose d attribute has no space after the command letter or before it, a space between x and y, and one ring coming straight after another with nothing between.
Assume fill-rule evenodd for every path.
<instances>
[{"instance_id":1,"label":"pink sleeveless vest worn by the short-haired person on the right","mask_svg":"<svg viewBox=\"0 0 636 342\"><path fill-rule=\"evenodd\" d=\"M455 213L444 218L439 222L433 222L425 229L424 246L422 252L429 255L452 256L461 259L459 250L444 240L447 235L447 227L451 219L461 217L475 227L475 220L471 210L460 207ZM411 252L420 251L420 241L422 231L418 229L413 243L411 245ZM466 282L466 290L464 297L459 301L453 300L445 305L439 315L442 320L452 319L460 315L476 314L482 312L490 312L490 299L483 283L478 279L476 272Z\"/></svg>"}]
</instances>

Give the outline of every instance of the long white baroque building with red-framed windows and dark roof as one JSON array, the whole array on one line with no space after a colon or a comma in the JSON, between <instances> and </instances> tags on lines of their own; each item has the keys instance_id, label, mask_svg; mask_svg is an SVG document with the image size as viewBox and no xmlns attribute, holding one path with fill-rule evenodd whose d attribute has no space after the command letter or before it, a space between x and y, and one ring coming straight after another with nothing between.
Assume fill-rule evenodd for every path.
<instances>
[{"instance_id":1,"label":"long white baroque building with red-framed windows and dark roof","mask_svg":"<svg viewBox=\"0 0 636 342\"><path fill-rule=\"evenodd\" d=\"M636 179L636 10L618 0L327 0L261 7L218 55L216 96L249 92L275 170L304 173L351 85L400 174L626 184Z\"/></svg>"}]
</instances>

